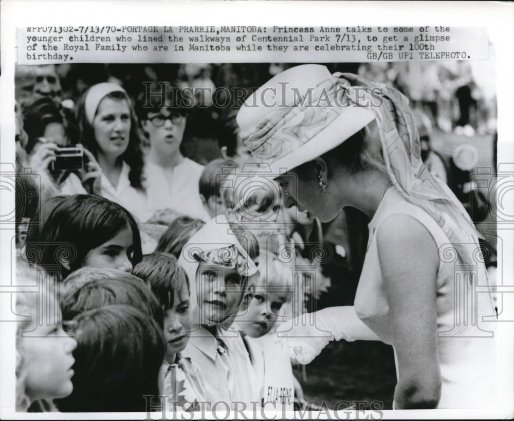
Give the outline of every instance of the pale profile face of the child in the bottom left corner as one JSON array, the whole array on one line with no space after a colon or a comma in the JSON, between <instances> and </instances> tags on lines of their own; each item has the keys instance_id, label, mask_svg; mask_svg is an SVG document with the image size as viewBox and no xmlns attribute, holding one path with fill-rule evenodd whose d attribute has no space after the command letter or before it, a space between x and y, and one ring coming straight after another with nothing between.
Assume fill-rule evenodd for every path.
<instances>
[{"instance_id":1,"label":"pale profile face of the child in the bottom left corner","mask_svg":"<svg viewBox=\"0 0 514 421\"><path fill-rule=\"evenodd\" d=\"M60 316L59 316L60 318ZM72 355L77 341L54 323L38 329L41 337L23 337L21 346L26 371L26 393L30 400L68 396L72 390Z\"/></svg>"}]
</instances>

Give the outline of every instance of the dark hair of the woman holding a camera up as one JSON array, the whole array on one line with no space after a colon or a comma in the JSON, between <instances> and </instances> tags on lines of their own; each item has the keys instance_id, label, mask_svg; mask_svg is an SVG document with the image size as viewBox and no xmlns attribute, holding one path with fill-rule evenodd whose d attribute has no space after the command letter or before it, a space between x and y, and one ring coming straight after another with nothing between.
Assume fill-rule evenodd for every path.
<instances>
[{"instance_id":1,"label":"dark hair of the woman holding a camera up","mask_svg":"<svg viewBox=\"0 0 514 421\"><path fill-rule=\"evenodd\" d=\"M67 124L63 119L56 103L50 98L40 98L27 106L23 112L23 128L27 132L28 140L25 146L27 154L31 154L38 138L45 133L50 123L60 123L66 130Z\"/></svg>"}]
</instances>

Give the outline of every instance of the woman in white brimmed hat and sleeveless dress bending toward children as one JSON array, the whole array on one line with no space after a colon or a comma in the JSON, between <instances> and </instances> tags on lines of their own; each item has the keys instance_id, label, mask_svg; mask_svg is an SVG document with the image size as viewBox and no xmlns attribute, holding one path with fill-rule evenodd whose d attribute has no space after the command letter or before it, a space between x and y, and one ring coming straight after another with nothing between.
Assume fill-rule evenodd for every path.
<instances>
[{"instance_id":1,"label":"woman in white brimmed hat and sleeveless dress bending toward children","mask_svg":"<svg viewBox=\"0 0 514 421\"><path fill-rule=\"evenodd\" d=\"M255 91L237 122L286 205L322 222L345 206L371 218L355 307L327 309L321 321L351 340L362 321L361 339L372 338L367 327L393 346L393 406L493 407L495 311L487 288L476 293L487 287L479 234L421 161L408 102L386 85L303 65Z\"/></svg>"}]
</instances>

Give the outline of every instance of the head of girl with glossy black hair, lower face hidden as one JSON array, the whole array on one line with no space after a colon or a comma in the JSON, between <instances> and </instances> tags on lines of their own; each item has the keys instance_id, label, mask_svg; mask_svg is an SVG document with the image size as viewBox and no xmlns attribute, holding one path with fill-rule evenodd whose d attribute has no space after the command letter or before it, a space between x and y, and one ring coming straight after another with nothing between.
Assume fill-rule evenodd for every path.
<instances>
[{"instance_id":1,"label":"head of girl with glossy black hair, lower face hidden","mask_svg":"<svg viewBox=\"0 0 514 421\"><path fill-rule=\"evenodd\" d=\"M37 238L27 239L25 256L34 265L60 264L62 278L82 266L130 272L141 260L141 237L136 221L119 204L95 195L67 196L59 199Z\"/></svg>"}]
</instances>

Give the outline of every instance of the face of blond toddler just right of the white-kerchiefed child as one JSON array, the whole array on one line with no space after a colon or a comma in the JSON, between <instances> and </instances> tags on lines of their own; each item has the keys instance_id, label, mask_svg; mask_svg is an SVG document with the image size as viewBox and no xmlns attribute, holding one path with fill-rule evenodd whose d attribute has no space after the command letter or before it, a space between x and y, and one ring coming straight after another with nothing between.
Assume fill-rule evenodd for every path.
<instances>
[{"instance_id":1,"label":"face of blond toddler just right of the white-kerchiefed child","mask_svg":"<svg viewBox=\"0 0 514 421\"><path fill-rule=\"evenodd\" d=\"M266 335L277 321L284 302L283 293L258 292L254 294L247 312L238 319L243 332L252 338Z\"/></svg>"}]
</instances>

